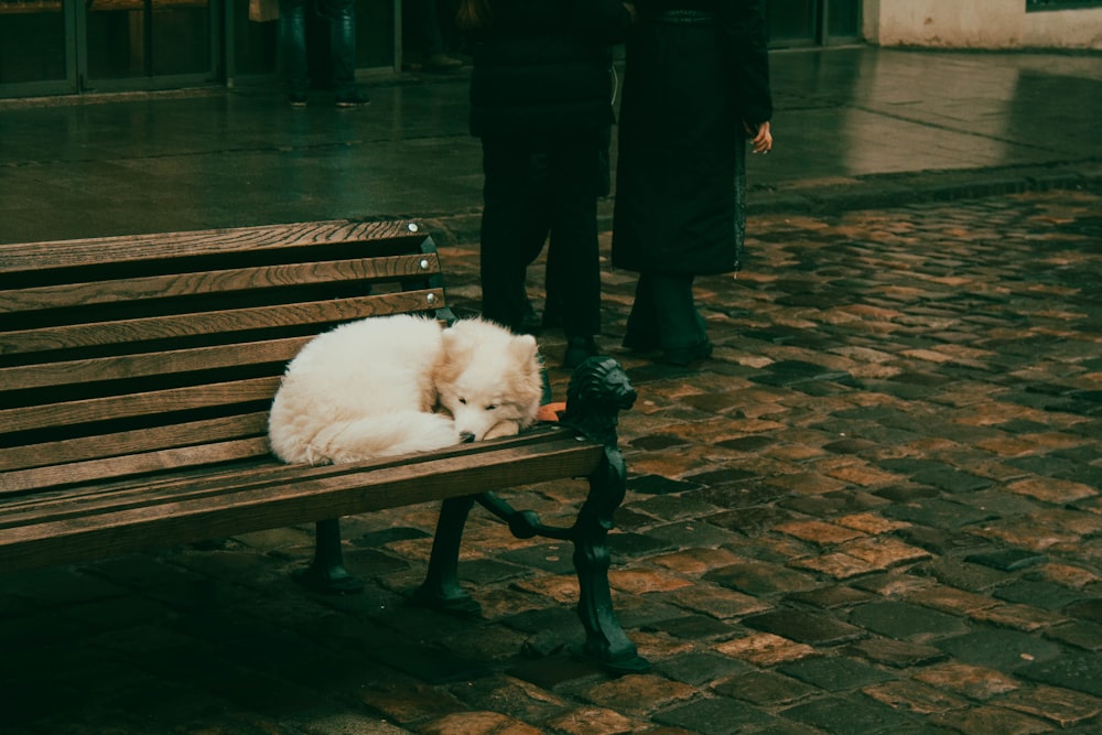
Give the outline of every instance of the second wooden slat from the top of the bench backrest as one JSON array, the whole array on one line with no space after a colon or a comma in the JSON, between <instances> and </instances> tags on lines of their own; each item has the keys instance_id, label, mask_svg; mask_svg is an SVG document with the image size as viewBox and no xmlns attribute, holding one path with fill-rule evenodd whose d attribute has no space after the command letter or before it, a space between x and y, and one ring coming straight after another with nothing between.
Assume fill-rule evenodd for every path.
<instances>
[{"instance_id":1,"label":"second wooden slat from the top of the bench backrest","mask_svg":"<svg viewBox=\"0 0 1102 735\"><path fill-rule=\"evenodd\" d=\"M429 277L440 272L435 253L358 258L321 262L184 272L87 283L61 283L0 291L0 313L91 306L234 293L295 285L338 284L372 279Z\"/></svg>"}]
</instances>

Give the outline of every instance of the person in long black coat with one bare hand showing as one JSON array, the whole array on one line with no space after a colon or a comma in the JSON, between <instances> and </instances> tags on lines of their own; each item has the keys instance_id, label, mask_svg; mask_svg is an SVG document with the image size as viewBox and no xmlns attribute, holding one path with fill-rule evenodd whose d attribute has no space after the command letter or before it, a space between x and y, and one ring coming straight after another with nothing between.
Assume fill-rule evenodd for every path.
<instances>
[{"instance_id":1,"label":"person in long black coat with one bare hand showing","mask_svg":"<svg viewBox=\"0 0 1102 735\"><path fill-rule=\"evenodd\" d=\"M746 141L773 147L765 0L638 0L626 47L612 262L639 272L624 337L689 365L696 275L742 267Z\"/></svg>"}]
</instances>

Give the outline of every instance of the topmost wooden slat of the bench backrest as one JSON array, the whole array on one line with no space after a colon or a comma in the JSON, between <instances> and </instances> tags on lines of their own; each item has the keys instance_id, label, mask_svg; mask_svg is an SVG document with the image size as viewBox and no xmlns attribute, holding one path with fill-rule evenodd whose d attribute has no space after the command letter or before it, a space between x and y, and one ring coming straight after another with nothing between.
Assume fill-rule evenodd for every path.
<instances>
[{"instance_id":1,"label":"topmost wooden slat of the bench backrest","mask_svg":"<svg viewBox=\"0 0 1102 735\"><path fill-rule=\"evenodd\" d=\"M410 230L414 227L414 230ZM47 271L104 263L158 261L169 258L218 256L234 252L280 250L315 245L428 239L420 223L350 223L331 220L263 225L123 237L98 237L52 242L0 244L0 273Z\"/></svg>"}]
</instances>

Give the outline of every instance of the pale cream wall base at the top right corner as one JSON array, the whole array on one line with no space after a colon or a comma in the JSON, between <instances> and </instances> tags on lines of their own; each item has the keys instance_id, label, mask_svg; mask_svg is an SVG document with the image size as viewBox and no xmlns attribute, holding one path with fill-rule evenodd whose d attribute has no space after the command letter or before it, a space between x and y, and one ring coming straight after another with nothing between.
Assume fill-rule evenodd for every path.
<instances>
[{"instance_id":1,"label":"pale cream wall base at the top right corner","mask_svg":"<svg viewBox=\"0 0 1102 735\"><path fill-rule=\"evenodd\" d=\"M882 46L1102 50L1102 8L1026 12L1025 0L865 0Z\"/></svg>"}]
</instances>

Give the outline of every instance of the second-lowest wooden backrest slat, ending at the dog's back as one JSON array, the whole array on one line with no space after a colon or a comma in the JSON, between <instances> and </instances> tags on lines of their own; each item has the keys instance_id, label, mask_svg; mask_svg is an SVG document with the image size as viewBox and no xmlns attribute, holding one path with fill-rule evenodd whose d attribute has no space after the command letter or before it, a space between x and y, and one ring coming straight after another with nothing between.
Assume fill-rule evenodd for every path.
<instances>
[{"instance_id":1,"label":"second-lowest wooden backrest slat, ending at the dog's back","mask_svg":"<svg viewBox=\"0 0 1102 735\"><path fill-rule=\"evenodd\" d=\"M268 430L268 413L194 421L190 423L151 426L139 431L96 434L60 442L0 448L0 472L32 469L52 464L87 462L105 456L142 454L159 448L175 448L197 443L224 442L231 439L263 435ZM96 479L102 479L102 476ZM3 487L0 478L0 487ZM42 483L36 487L48 487Z\"/></svg>"}]
</instances>

